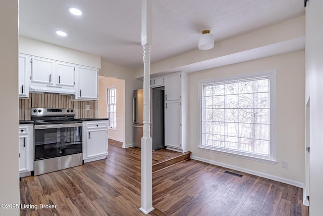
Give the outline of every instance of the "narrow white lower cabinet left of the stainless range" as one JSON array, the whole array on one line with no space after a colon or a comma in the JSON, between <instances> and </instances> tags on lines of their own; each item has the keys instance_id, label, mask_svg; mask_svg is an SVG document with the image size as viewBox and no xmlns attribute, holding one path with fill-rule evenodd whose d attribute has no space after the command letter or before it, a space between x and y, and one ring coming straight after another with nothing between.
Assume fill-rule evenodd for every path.
<instances>
[{"instance_id":1,"label":"narrow white lower cabinet left of the stainless range","mask_svg":"<svg viewBox=\"0 0 323 216\"><path fill-rule=\"evenodd\" d=\"M19 125L19 174L20 177L31 175L34 170L34 125Z\"/></svg>"}]
</instances>

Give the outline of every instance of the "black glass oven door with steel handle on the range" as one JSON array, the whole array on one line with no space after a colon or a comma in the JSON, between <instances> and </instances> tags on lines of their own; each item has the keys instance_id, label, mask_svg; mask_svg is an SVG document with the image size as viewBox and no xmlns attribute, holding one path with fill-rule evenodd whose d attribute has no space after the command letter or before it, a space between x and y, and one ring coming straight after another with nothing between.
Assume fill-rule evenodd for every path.
<instances>
[{"instance_id":1,"label":"black glass oven door with steel handle on the range","mask_svg":"<svg viewBox=\"0 0 323 216\"><path fill-rule=\"evenodd\" d=\"M35 125L35 160L82 153L82 123Z\"/></svg>"}]
</instances>

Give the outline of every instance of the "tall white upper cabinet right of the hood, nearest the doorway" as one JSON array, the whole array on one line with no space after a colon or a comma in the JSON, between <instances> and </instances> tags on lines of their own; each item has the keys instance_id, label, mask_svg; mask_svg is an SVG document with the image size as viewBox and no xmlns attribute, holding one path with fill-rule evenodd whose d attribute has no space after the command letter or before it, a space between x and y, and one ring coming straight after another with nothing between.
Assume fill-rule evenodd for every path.
<instances>
[{"instance_id":1,"label":"tall white upper cabinet right of the hood, nearest the doorway","mask_svg":"<svg viewBox=\"0 0 323 216\"><path fill-rule=\"evenodd\" d=\"M98 99L98 70L79 66L76 73L76 100Z\"/></svg>"}]
</instances>

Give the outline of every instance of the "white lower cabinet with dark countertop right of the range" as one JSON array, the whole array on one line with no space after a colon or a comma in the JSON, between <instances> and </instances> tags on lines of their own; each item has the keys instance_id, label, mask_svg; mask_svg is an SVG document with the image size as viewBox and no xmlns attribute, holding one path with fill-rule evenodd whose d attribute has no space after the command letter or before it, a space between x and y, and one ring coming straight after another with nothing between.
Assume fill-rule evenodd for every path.
<instances>
[{"instance_id":1,"label":"white lower cabinet with dark countertop right of the range","mask_svg":"<svg viewBox=\"0 0 323 216\"><path fill-rule=\"evenodd\" d=\"M83 121L84 163L106 158L107 120Z\"/></svg>"}]
</instances>

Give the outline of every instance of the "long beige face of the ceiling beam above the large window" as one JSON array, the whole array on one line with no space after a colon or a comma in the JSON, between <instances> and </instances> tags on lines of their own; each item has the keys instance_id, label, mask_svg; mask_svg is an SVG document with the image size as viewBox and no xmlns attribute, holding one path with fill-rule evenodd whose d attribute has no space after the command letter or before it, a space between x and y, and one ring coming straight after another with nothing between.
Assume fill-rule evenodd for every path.
<instances>
[{"instance_id":1,"label":"long beige face of the ceiling beam above the large window","mask_svg":"<svg viewBox=\"0 0 323 216\"><path fill-rule=\"evenodd\" d=\"M178 68L186 65L194 65L201 61L208 61L211 59L218 59L219 61L228 60L227 58L237 58L236 55L230 57L233 54L239 54L250 50L256 50L258 48L265 48L281 42L292 41L294 39L303 38L305 36L305 16L297 17L273 26L259 29L250 33L246 33L234 38L230 38L224 41L214 44L214 48L211 50L201 51L194 50L187 52L173 58L169 58L160 62L151 64L151 74L165 73L167 71L179 71ZM196 41L197 42L197 41ZM296 45L295 45L296 47ZM153 47L151 48L153 51ZM282 49L281 44L275 49ZM292 49L292 48L290 48ZM302 49L299 50L303 50ZM262 52L255 51L255 52ZM272 51L275 52L275 51ZM291 52L291 51L289 51ZM258 53L262 55L262 53ZM275 55L275 54L274 54ZM240 58L238 56L238 58ZM241 58L245 58L242 56ZM254 58L256 59L256 58ZM221 64L221 63L220 63ZM227 61L226 65L230 64ZM180 69L182 70L182 69ZM136 77L142 77L142 68L136 70ZM175 72L174 71L174 72Z\"/></svg>"}]
</instances>

